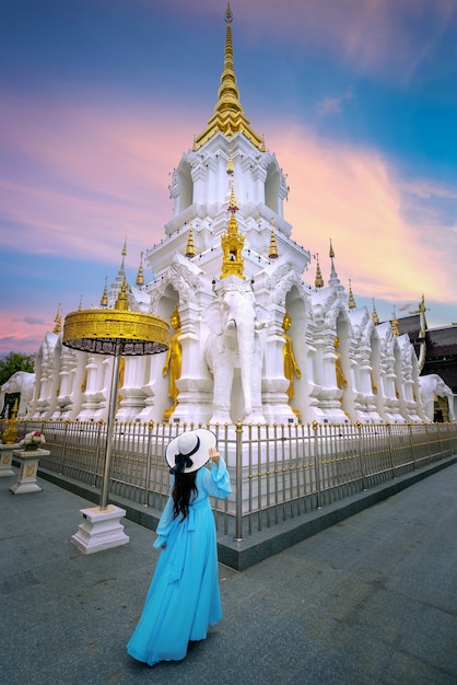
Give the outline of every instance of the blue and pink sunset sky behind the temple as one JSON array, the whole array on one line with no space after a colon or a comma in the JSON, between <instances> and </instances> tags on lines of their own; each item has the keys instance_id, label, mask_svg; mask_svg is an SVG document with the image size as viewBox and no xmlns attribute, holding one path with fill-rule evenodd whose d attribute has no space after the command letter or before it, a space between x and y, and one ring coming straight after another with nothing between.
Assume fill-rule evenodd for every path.
<instances>
[{"instance_id":1,"label":"blue and pink sunset sky behind the temple","mask_svg":"<svg viewBox=\"0 0 457 685\"><path fill-rule=\"evenodd\" d=\"M457 2L233 0L250 125L292 239L380 320L457 322ZM218 100L225 0L3 0L0 355L97 306L127 239L165 237L171 173ZM152 274L145 269L145 279Z\"/></svg>"}]
</instances>

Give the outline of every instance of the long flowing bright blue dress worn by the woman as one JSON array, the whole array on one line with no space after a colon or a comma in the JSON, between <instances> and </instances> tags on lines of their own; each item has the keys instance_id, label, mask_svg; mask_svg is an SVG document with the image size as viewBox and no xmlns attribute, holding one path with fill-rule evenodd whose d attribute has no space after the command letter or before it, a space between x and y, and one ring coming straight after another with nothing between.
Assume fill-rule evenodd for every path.
<instances>
[{"instance_id":1,"label":"long flowing bright blue dress worn by the woman","mask_svg":"<svg viewBox=\"0 0 457 685\"><path fill-rule=\"evenodd\" d=\"M151 666L184 659L189 640L203 640L208 626L222 618L209 497L226 498L232 491L223 458L219 467L212 463L211 471L199 468L196 485L198 494L184 520L181 515L173 518L173 498L168 497L153 545L160 549L166 544L166 548L161 552L141 618L127 643L131 657Z\"/></svg>"}]
</instances>

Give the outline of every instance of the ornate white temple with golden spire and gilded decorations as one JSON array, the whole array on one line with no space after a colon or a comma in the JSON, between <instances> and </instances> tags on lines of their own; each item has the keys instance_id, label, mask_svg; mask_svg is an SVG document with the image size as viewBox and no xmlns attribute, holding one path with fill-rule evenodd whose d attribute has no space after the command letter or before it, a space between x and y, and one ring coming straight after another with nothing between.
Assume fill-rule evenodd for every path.
<instances>
[{"instance_id":1,"label":"ornate white temple with golden spire and gilded decorations","mask_svg":"<svg viewBox=\"0 0 457 685\"><path fill-rule=\"evenodd\" d=\"M407 335L358 309L338 279L304 280L289 188L239 101L226 12L218 102L173 173L173 217L136 285L126 248L102 306L126 282L129 307L171 322L168 353L121 361L117 419L203 423L422 422L420 367ZM126 246L125 246L126 247ZM28 418L106 420L113 359L63 347L60 314L36 361ZM394 326L395 328L395 326Z\"/></svg>"}]
</instances>

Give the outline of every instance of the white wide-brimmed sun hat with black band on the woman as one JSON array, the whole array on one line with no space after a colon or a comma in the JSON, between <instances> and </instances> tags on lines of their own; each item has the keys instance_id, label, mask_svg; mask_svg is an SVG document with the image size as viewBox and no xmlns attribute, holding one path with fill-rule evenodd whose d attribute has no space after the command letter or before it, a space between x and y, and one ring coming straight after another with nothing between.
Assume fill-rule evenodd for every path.
<instances>
[{"instance_id":1,"label":"white wide-brimmed sun hat with black band on the woman","mask_svg":"<svg viewBox=\"0 0 457 685\"><path fill-rule=\"evenodd\" d=\"M207 428L187 430L177 436L165 450L165 458L172 474L190 474L210 458L210 448L215 448L216 437Z\"/></svg>"}]
</instances>

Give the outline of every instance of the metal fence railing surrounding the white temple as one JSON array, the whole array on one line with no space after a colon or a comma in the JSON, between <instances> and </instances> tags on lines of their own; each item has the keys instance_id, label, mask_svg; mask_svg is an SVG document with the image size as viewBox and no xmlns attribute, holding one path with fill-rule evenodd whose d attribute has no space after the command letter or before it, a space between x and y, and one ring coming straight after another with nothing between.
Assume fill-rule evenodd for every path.
<instances>
[{"instance_id":1,"label":"metal fence railing surrounding the white temple","mask_svg":"<svg viewBox=\"0 0 457 685\"><path fill-rule=\"evenodd\" d=\"M19 421L19 436L40 430L40 468L102 487L106 423ZM168 442L191 423L119 423L114 428L109 492L161 511L169 492ZM218 531L242 539L280 521L457 453L457 423L209 426L232 480L213 501ZM4 429L0 421L0 430Z\"/></svg>"}]
</instances>

